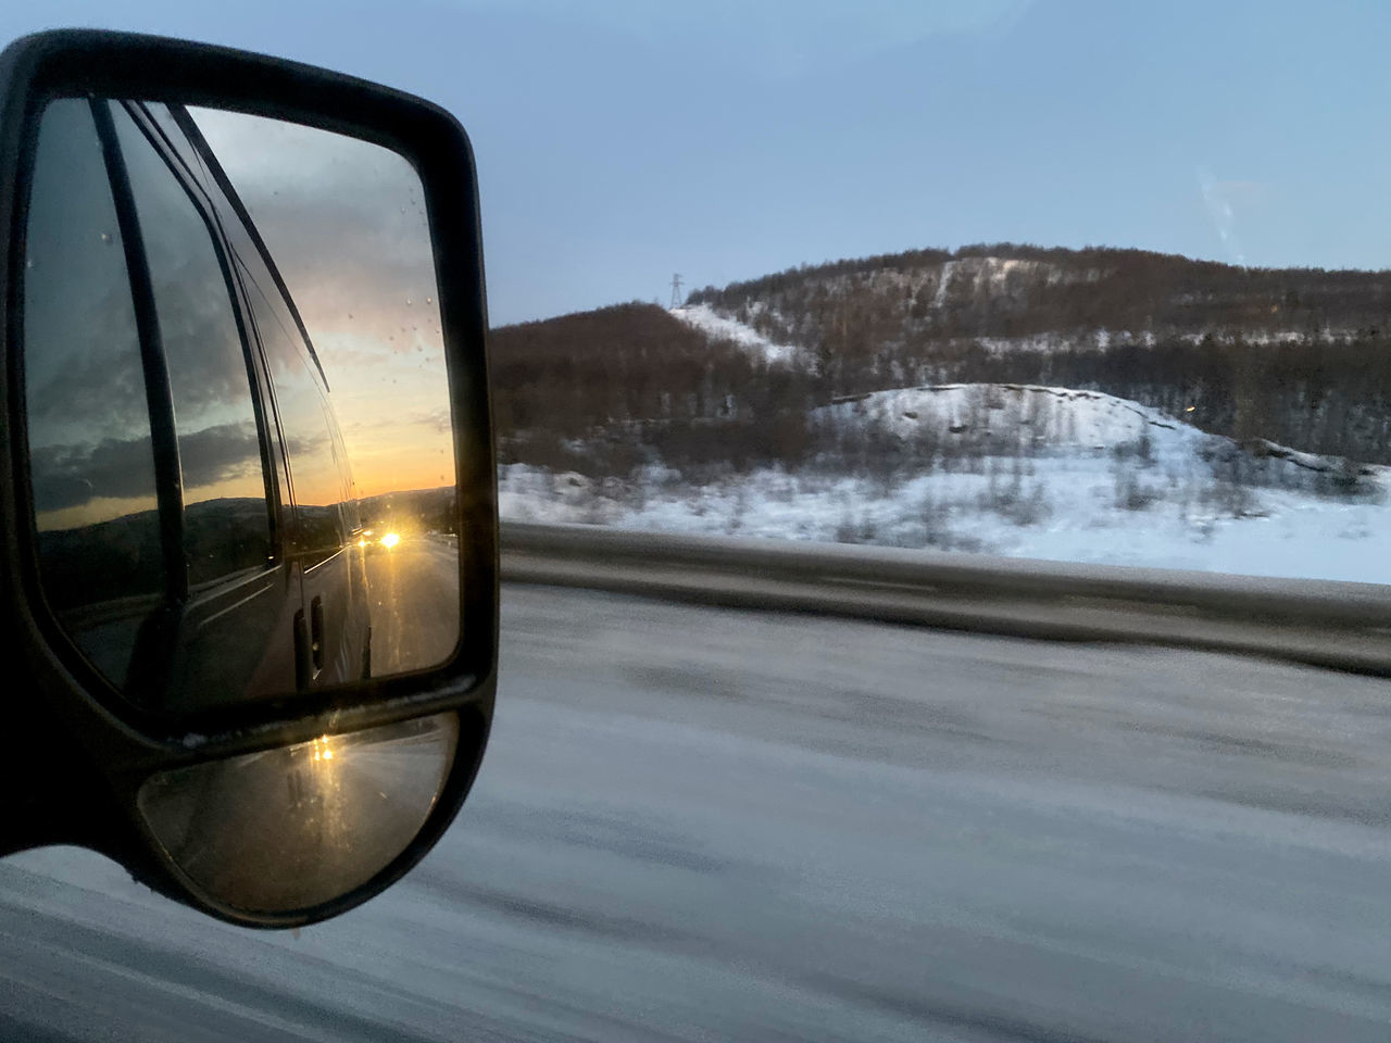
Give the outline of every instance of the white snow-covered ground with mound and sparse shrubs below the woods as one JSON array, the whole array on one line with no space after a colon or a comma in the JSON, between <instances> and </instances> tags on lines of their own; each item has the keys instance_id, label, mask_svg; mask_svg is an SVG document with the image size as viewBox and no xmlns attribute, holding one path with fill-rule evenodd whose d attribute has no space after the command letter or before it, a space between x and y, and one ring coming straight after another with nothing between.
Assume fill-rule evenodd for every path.
<instances>
[{"instance_id":1,"label":"white snow-covered ground with mound and sparse shrubs below the woods","mask_svg":"<svg viewBox=\"0 0 1391 1043\"><path fill-rule=\"evenodd\" d=\"M1330 460L1257 458L1135 402L1067 388L908 388L818 413L936 455L868 477L762 469L704 485L661 467L595 483L513 464L499 474L502 516L1391 583L1384 469L1334 495L1317 470ZM1237 467L1248 483L1231 481Z\"/></svg>"}]
</instances>

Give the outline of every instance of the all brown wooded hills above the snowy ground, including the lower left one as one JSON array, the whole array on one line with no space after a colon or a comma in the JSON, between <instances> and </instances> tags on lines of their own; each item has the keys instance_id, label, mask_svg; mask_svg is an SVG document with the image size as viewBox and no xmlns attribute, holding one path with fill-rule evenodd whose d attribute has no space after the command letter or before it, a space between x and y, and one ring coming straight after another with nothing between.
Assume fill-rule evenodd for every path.
<instances>
[{"instance_id":1,"label":"all brown wooded hills above the snowy ground, including the lower left one","mask_svg":"<svg viewBox=\"0 0 1391 1043\"><path fill-rule=\"evenodd\" d=\"M559 463L556 438L700 421L725 427L736 456L796 456L796 416L835 398L1017 382L1391 462L1387 273L1008 243L918 250L701 289L670 314L623 305L504 327L492 359L505 459ZM618 441L605 469L632 456L632 434Z\"/></svg>"}]
</instances>

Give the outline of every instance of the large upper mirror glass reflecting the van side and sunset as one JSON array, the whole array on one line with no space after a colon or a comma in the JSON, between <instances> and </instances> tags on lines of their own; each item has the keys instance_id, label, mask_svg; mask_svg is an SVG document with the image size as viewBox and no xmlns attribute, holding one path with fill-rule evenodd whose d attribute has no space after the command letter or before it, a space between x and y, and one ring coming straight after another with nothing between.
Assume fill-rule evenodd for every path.
<instances>
[{"instance_id":1,"label":"large upper mirror glass reflecting the van side and sunset","mask_svg":"<svg viewBox=\"0 0 1391 1043\"><path fill-rule=\"evenodd\" d=\"M22 324L43 591L131 700L199 711L452 655L456 419L406 157L53 102Z\"/></svg>"}]
</instances>

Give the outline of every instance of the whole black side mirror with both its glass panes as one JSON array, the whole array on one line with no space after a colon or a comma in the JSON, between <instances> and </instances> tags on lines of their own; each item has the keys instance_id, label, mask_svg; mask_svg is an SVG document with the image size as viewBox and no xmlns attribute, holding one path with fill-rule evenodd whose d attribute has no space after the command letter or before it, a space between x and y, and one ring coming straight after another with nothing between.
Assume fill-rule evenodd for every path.
<instances>
[{"instance_id":1,"label":"whole black side mirror with both its glass panes","mask_svg":"<svg viewBox=\"0 0 1391 1043\"><path fill-rule=\"evenodd\" d=\"M0 54L0 852L296 926L448 827L498 640L476 185L323 70Z\"/></svg>"}]
</instances>

